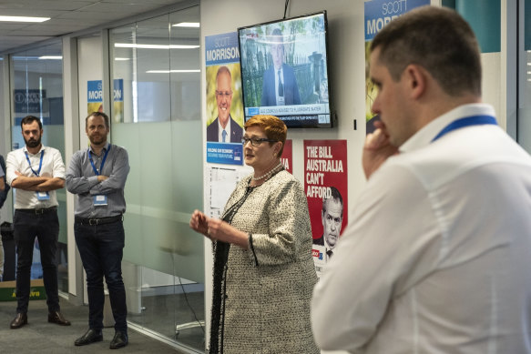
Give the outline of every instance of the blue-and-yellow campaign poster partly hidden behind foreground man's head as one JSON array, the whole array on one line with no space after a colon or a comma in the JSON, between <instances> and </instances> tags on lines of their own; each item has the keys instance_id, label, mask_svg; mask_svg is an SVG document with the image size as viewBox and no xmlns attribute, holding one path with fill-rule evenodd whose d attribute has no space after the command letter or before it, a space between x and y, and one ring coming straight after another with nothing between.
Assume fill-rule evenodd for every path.
<instances>
[{"instance_id":1,"label":"blue-and-yellow campaign poster partly hidden behind foreground man's head","mask_svg":"<svg viewBox=\"0 0 531 354\"><path fill-rule=\"evenodd\" d=\"M368 69L374 35L396 17L423 5L430 5L430 0L372 0L365 2L365 67L367 67L365 70L365 123L367 134L373 133L374 122L380 119L380 116L374 115L371 110L373 101L378 95L378 88L373 85Z\"/></svg>"}]
</instances>

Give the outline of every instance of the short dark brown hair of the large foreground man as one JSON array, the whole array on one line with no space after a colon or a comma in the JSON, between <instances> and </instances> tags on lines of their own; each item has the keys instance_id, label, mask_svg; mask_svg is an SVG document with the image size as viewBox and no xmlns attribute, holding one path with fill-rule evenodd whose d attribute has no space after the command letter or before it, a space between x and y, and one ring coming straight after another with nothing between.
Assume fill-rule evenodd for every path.
<instances>
[{"instance_id":1,"label":"short dark brown hair of the large foreground man","mask_svg":"<svg viewBox=\"0 0 531 354\"><path fill-rule=\"evenodd\" d=\"M410 64L424 67L449 96L481 96L481 58L470 25L454 10L422 6L385 25L371 51L394 81Z\"/></svg>"}]
</instances>

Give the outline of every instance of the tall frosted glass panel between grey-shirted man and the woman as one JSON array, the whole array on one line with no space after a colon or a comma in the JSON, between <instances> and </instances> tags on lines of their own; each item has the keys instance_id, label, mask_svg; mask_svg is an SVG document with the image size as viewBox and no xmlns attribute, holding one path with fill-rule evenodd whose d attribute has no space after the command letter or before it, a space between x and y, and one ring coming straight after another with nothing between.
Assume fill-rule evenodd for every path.
<instances>
[{"instance_id":1,"label":"tall frosted glass panel between grey-shirted man and the woman","mask_svg":"<svg viewBox=\"0 0 531 354\"><path fill-rule=\"evenodd\" d=\"M113 144L128 149L129 320L204 351L199 6L109 33Z\"/></svg>"}]
</instances>

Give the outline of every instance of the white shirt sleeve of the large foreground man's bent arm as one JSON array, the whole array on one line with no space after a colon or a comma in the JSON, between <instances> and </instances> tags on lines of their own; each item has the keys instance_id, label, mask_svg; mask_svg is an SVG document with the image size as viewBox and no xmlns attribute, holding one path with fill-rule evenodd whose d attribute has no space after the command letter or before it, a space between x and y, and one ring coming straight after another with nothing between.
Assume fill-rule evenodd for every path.
<instances>
[{"instance_id":1,"label":"white shirt sleeve of the large foreground man's bent arm","mask_svg":"<svg viewBox=\"0 0 531 354\"><path fill-rule=\"evenodd\" d=\"M321 349L363 350L393 299L437 261L440 228L422 183L403 167L383 169L357 201L313 290L311 325Z\"/></svg>"}]
</instances>

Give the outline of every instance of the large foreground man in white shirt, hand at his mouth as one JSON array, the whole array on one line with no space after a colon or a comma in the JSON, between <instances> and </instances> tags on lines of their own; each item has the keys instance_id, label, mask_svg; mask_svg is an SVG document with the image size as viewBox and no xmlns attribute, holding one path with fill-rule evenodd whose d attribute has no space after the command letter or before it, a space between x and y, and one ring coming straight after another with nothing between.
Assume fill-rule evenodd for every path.
<instances>
[{"instance_id":1,"label":"large foreground man in white shirt, hand at his mouth","mask_svg":"<svg viewBox=\"0 0 531 354\"><path fill-rule=\"evenodd\" d=\"M531 157L481 103L475 35L424 6L374 37L368 183L312 299L322 349L531 352Z\"/></svg>"}]
</instances>

